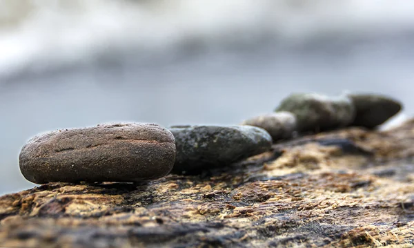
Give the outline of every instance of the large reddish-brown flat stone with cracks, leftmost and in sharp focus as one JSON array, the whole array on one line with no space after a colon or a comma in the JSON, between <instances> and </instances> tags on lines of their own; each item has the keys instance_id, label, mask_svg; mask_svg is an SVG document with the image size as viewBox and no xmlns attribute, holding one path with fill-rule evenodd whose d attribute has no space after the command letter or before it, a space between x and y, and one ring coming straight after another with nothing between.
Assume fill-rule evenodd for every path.
<instances>
[{"instance_id":1,"label":"large reddish-brown flat stone with cracks, leftmost and in sharp focus","mask_svg":"<svg viewBox=\"0 0 414 248\"><path fill-rule=\"evenodd\" d=\"M160 178L175 161L174 136L157 124L101 124L33 137L21 149L30 182L139 182Z\"/></svg>"}]
</instances>

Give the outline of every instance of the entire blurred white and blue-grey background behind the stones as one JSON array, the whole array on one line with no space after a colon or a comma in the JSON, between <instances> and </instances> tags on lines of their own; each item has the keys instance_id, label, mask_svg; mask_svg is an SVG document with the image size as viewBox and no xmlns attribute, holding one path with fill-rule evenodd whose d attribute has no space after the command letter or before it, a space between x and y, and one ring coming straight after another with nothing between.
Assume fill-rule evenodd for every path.
<instances>
[{"instance_id":1,"label":"entire blurred white and blue-grey background behind the stones","mask_svg":"<svg viewBox=\"0 0 414 248\"><path fill-rule=\"evenodd\" d=\"M382 93L413 115L414 2L2 0L0 194L21 146L101 122L237 124L293 92Z\"/></svg>"}]
</instances>

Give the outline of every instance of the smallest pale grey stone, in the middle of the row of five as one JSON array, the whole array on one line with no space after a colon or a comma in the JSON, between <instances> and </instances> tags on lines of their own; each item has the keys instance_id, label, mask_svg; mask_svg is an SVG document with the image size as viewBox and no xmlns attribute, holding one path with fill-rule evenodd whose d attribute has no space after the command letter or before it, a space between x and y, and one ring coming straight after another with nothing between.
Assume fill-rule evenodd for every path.
<instances>
[{"instance_id":1,"label":"smallest pale grey stone, in the middle of the row of five","mask_svg":"<svg viewBox=\"0 0 414 248\"><path fill-rule=\"evenodd\" d=\"M296 117L293 113L280 111L252 117L242 125L258 126L268 131L273 141L292 137L296 129Z\"/></svg>"}]
</instances>

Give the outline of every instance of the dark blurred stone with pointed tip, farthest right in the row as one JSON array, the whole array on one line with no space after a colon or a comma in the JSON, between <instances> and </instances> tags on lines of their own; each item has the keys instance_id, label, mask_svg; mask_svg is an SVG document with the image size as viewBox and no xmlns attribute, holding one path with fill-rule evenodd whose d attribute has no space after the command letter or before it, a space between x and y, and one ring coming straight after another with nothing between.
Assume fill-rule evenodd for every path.
<instances>
[{"instance_id":1,"label":"dark blurred stone with pointed tip, farthest right in the row","mask_svg":"<svg viewBox=\"0 0 414 248\"><path fill-rule=\"evenodd\" d=\"M348 97L355 106L355 120L352 126L375 128L396 115L402 109L402 104L395 99L383 95L351 94Z\"/></svg>"}]
</instances>

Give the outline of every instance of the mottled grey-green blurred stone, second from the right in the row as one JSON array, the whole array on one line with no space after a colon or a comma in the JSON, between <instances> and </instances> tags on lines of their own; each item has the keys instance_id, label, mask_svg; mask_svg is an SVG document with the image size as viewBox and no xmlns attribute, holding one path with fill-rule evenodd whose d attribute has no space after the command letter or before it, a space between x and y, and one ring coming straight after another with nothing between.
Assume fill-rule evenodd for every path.
<instances>
[{"instance_id":1,"label":"mottled grey-green blurred stone, second from the right in the row","mask_svg":"<svg viewBox=\"0 0 414 248\"><path fill-rule=\"evenodd\" d=\"M293 94L282 101L276 111L296 116L298 131L324 131L348 126L355 108L346 96L327 97L315 93Z\"/></svg>"}]
</instances>

